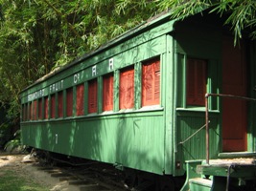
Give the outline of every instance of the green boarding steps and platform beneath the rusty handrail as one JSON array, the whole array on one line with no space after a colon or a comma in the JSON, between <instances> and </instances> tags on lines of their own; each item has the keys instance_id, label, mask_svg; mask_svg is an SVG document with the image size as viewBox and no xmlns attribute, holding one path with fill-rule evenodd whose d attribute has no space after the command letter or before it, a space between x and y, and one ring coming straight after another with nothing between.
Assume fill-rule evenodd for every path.
<instances>
[{"instance_id":1,"label":"green boarding steps and platform beneath the rusty handrail","mask_svg":"<svg viewBox=\"0 0 256 191\"><path fill-rule=\"evenodd\" d=\"M186 161L187 178L181 191L220 191L232 186L233 190L256 183L256 159L210 159Z\"/></svg>"}]
</instances>

